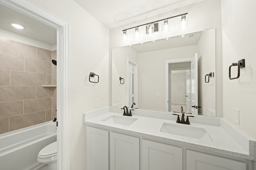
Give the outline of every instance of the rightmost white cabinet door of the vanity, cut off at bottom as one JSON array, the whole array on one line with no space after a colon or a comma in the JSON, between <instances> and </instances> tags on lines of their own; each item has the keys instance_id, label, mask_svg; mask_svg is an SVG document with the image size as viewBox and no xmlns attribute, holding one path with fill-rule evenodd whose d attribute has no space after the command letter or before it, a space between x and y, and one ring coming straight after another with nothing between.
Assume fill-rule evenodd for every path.
<instances>
[{"instance_id":1,"label":"rightmost white cabinet door of the vanity, cut off at bottom","mask_svg":"<svg viewBox=\"0 0 256 170\"><path fill-rule=\"evenodd\" d=\"M246 163L187 150L187 170L246 170Z\"/></svg>"}]
</instances>

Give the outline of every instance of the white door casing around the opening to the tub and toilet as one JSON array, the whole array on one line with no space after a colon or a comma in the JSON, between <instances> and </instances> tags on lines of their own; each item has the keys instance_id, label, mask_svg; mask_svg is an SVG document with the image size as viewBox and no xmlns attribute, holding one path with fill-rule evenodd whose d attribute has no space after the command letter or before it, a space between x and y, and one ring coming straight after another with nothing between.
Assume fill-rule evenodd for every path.
<instances>
[{"instance_id":1,"label":"white door casing around the opening to the tub and toilet","mask_svg":"<svg viewBox=\"0 0 256 170\"><path fill-rule=\"evenodd\" d=\"M57 167L70 170L68 23L28 0L0 0L0 4L57 30Z\"/></svg>"}]
</instances>

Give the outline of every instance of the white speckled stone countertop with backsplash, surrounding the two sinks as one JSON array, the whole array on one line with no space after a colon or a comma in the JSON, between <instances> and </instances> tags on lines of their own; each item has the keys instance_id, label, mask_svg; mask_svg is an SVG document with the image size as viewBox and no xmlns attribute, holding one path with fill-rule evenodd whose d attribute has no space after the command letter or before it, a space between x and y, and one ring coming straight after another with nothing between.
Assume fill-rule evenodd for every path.
<instances>
[{"instance_id":1,"label":"white speckled stone countertop with backsplash, surrounding the two sinks","mask_svg":"<svg viewBox=\"0 0 256 170\"><path fill-rule=\"evenodd\" d=\"M190 118L190 125L184 125L176 123L177 116L172 115L172 113L136 109L133 111L132 117L126 116L127 119L137 119L131 125L127 126L102 121L112 115L122 116L122 110L119 107L105 107L84 113L83 121L87 125L116 130L131 135L140 135L152 140L160 140L248 160L256 160L256 141L223 118L195 115L195 117ZM163 123L178 124L191 128L204 128L210 135L210 139L196 139L163 133L160 131Z\"/></svg>"}]
</instances>

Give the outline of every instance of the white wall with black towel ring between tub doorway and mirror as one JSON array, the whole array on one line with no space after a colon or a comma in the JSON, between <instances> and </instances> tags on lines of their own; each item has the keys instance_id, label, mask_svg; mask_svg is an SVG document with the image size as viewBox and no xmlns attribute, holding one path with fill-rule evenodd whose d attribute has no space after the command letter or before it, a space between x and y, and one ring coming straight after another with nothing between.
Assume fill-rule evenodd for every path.
<instances>
[{"instance_id":1,"label":"white wall with black towel ring between tub doorway and mirror","mask_svg":"<svg viewBox=\"0 0 256 170\"><path fill-rule=\"evenodd\" d=\"M82 114L109 106L109 29L73 0L31 0L69 23L70 169L84 170L85 125ZM90 72L99 83L88 82Z\"/></svg>"}]
</instances>

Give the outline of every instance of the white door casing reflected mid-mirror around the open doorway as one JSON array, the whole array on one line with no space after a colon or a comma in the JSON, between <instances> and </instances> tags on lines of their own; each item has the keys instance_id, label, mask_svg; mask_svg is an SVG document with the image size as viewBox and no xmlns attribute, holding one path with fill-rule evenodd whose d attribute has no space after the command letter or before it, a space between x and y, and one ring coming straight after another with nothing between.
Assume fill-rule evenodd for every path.
<instances>
[{"instance_id":1,"label":"white door casing reflected mid-mirror around the open doorway","mask_svg":"<svg viewBox=\"0 0 256 170\"><path fill-rule=\"evenodd\" d=\"M169 111L169 64L190 62L191 58L172 59L165 61L165 111Z\"/></svg>"}]
</instances>

